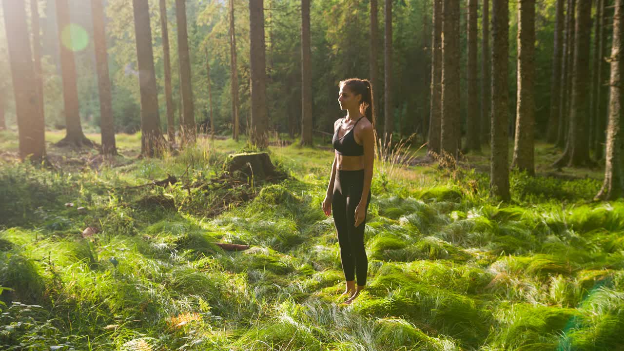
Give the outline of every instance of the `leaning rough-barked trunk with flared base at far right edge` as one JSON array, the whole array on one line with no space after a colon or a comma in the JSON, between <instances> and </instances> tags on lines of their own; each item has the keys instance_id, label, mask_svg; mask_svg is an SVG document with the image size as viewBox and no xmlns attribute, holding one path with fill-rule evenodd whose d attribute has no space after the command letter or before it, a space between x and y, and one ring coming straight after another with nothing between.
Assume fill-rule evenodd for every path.
<instances>
[{"instance_id":1,"label":"leaning rough-barked trunk with flared base at far right edge","mask_svg":"<svg viewBox=\"0 0 624 351\"><path fill-rule=\"evenodd\" d=\"M622 72L624 57L622 54L624 34L624 0L615 0L613 14L613 42L611 47L611 77L609 84L609 121L607 127L607 153L605 155L605 180L595 200L615 200L624 195L624 142L622 141L623 91Z\"/></svg>"}]
</instances>

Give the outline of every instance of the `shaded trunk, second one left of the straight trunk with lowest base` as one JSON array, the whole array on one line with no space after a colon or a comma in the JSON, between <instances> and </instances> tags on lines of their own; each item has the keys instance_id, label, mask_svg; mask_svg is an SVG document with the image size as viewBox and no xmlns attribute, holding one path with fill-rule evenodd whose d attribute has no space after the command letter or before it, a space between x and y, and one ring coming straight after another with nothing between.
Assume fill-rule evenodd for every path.
<instances>
[{"instance_id":1,"label":"shaded trunk, second one left of the straight trunk with lowest base","mask_svg":"<svg viewBox=\"0 0 624 351\"><path fill-rule=\"evenodd\" d=\"M468 0L467 36L468 36L468 62L467 62L467 106L466 106L466 151L480 151L479 141L479 91L477 83L477 0Z\"/></svg>"}]
</instances>

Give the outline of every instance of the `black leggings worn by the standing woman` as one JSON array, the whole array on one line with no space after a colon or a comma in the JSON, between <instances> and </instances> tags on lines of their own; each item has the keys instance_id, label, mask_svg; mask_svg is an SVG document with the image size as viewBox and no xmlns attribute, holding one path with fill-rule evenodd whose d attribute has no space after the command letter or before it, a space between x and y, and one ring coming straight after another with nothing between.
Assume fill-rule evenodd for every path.
<instances>
[{"instance_id":1,"label":"black leggings worn by the standing woman","mask_svg":"<svg viewBox=\"0 0 624 351\"><path fill-rule=\"evenodd\" d=\"M334 224L338 231L338 244L340 245L340 260L343 264L345 280L355 280L358 276L358 285L366 285L368 272L368 259L364 249L364 227L366 227L366 215L363 222L356 227L355 208L362 198L364 187L364 170L336 172L334 182L334 194L331 202L334 214ZM366 199L366 210L371 201L371 192Z\"/></svg>"}]
</instances>

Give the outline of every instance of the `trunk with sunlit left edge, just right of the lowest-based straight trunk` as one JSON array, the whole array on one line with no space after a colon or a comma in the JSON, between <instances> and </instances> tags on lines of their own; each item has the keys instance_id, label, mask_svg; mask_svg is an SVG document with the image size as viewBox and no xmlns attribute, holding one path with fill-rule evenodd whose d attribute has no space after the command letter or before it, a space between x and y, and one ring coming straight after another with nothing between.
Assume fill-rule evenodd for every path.
<instances>
[{"instance_id":1,"label":"trunk with sunlit left edge, just right of the lowest-based straight trunk","mask_svg":"<svg viewBox=\"0 0 624 351\"><path fill-rule=\"evenodd\" d=\"M518 2L518 92L512 168L535 174L535 0Z\"/></svg>"}]
</instances>

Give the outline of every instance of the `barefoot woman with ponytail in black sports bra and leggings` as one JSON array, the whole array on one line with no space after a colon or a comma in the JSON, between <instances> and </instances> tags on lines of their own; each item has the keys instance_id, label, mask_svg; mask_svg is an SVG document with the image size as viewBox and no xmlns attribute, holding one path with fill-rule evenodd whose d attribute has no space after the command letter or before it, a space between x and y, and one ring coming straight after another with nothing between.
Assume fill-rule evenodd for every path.
<instances>
[{"instance_id":1,"label":"barefoot woman with ponytail in black sports bra and leggings","mask_svg":"<svg viewBox=\"0 0 624 351\"><path fill-rule=\"evenodd\" d=\"M334 122L332 142L336 151L323 212L330 215L333 207L346 280L346 290L340 296L347 298L345 304L351 304L364 289L368 273L364 227L373 179L373 87L363 79L341 81L338 102L347 115Z\"/></svg>"}]
</instances>

